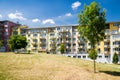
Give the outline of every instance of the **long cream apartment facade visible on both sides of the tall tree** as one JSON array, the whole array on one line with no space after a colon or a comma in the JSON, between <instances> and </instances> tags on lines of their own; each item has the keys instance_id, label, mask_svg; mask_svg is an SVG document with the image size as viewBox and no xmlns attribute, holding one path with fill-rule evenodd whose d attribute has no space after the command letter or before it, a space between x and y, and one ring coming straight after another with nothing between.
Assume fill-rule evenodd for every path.
<instances>
[{"instance_id":1,"label":"long cream apartment facade visible on both sides of the tall tree","mask_svg":"<svg viewBox=\"0 0 120 80\"><path fill-rule=\"evenodd\" d=\"M31 52L48 51L60 53L60 44L63 43L65 45L65 53L87 53L90 49L90 43L85 42L80 37L77 28L77 25L28 28L26 29L26 38L28 41L26 49ZM104 54L104 57L110 62L112 62L112 56L115 52L120 57L119 36L120 22L106 23L105 39L96 45L98 53Z\"/></svg>"}]
</instances>

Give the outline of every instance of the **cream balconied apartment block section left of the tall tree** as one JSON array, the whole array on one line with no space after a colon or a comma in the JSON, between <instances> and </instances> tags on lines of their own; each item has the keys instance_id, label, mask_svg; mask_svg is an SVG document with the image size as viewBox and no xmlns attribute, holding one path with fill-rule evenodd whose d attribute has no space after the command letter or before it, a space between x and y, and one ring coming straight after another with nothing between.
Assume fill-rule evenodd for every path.
<instances>
[{"instance_id":1,"label":"cream balconied apartment block section left of the tall tree","mask_svg":"<svg viewBox=\"0 0 120 80\"><path fill-rule=\"evenodd\" d=\"M85 43L80 38L77 26L29 28L26 31L29 43L27 50L60 53L60 44L63 43L66 53L82 53L85 51Z\"/></svg>"}]
</instances>

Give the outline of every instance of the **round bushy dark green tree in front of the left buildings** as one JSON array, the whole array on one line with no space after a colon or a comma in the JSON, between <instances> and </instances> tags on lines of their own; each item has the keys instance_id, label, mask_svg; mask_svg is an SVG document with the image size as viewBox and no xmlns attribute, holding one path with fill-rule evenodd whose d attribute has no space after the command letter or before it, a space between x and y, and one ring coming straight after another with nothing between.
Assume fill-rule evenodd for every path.
<instances>
[{"instance_id":1,"label":"round bushy dark green tree in front of the left buildings","mask_svg":"<svg viewBox=\"0 0 120 80\"><path fill-rule=\"evenodd\" d=\"M27 39L24 36L15 35L10 37L8 43L12 50L21 49L27 46Z\"/></svg>"}]
</instances>

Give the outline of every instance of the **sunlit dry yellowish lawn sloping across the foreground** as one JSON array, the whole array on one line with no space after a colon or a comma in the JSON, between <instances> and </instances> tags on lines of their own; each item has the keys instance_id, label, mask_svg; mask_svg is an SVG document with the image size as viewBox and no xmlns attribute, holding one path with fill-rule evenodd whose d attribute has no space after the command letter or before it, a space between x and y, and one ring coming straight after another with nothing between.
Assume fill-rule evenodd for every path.
<instances>
[{"instance_id":1,"label":"sunlit dry yellowish lawn sloping across the foreground","mask_svg":"<svg viewBox=\"0 0 120 80\"><path fill-rule=\"evenodd\" d=\"M53 54L0 53L0 80L120 80L120 65Z\"/></svg>"}]
</instances>

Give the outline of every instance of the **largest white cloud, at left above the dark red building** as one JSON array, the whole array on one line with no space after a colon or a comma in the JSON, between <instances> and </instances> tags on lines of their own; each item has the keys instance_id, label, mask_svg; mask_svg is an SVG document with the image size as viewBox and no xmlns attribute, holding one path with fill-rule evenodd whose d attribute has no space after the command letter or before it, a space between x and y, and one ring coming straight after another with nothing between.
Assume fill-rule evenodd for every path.
<instances>
[{"instance_id":1,"label":"largest white cloud, at left above the dark red building","mask_svg":"<svg viewBox=\"0 0 120 80\"><path fill-rule=\"evenodd\" d=\"M27 20L26 18L23 17L23 14L20 12L10 13L8 14L8 17L10 19Z\"/></svg>"}]
</instances>

